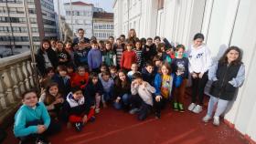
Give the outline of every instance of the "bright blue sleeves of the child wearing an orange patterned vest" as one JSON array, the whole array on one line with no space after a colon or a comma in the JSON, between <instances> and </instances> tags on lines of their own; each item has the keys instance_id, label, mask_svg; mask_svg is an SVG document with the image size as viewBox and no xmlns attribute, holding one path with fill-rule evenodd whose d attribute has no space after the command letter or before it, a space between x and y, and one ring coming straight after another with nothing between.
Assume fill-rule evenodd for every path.
<instances>
[{"instance_id":1,"label":"bright blue sleeves of the child wearing an orange patterned vest","mask_svg":"<svg viewBox=\"0 0 256 144\"><path fill-rule=\"evenodd\" d=\"M170 77L173 77L173 87L179 87L182 83L182 77L171 74ZM155 96L161 95L161 85L162 85L162 75L156 74L155 75ZM171 92L172 89L169 89ZM170 93L171 94L171 93Z\"/></svg>"}]
</instances>

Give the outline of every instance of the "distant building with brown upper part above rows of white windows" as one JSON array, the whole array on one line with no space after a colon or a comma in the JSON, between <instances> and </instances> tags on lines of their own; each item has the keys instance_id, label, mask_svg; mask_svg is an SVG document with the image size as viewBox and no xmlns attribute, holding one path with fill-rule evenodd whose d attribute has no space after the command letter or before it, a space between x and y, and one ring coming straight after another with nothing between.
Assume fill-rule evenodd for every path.
<instances>
[{"instance_id":1,"label":"distant building with brown upper part above rows of white windows","mask_svg":"<svg viewBox=\"0 0 256 144\"><path fill-rule=\"evenodd\" d=\"M99 40L113 36L113 13L93 13L93 36Z\"/></svg>"}]
</instances>

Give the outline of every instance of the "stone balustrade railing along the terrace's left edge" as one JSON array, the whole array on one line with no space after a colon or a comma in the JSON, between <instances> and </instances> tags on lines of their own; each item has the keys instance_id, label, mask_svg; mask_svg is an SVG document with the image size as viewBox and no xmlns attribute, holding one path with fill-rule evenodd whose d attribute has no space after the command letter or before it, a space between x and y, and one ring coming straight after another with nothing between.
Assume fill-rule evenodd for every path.
<instances>
[{"instance_id":1,"label":"stone balustrade railing along the terrace's left edge","mask_svg":"<svg viewBox=\"0 0 256 144\"><path fill-rule=\"evenodd\" d=\"M0 58L0 123L20 104L20 95L35 87L30 52Z\"/></svg>"}]
</instances>

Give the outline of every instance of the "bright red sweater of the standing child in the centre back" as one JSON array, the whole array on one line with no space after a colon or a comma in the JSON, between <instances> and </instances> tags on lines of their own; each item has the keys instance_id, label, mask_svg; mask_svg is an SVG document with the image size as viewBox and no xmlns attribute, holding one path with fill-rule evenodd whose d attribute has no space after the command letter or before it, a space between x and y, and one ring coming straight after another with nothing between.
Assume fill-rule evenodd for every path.
<instances>
[{"instance_id":1,"label":"bright red sweater of the standing child in the centre back","mask_svg":"<svg viewBox=\"0 0 256 144\"><path fill-rule=\"evenodd\" d=\"M132 51L124 51L120 61L120 67L131 69L132 64L137 62L136 53Z\"/></svg>"}]
</instances>

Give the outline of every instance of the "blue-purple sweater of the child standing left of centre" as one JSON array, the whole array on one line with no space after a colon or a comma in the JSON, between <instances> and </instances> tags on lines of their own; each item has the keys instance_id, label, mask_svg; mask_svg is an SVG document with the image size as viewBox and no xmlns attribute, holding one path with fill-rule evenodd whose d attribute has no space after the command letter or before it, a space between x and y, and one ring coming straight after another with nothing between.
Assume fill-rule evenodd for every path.
<instances>
[{"instance_id":1,"label":"blue-purple sweater of the child standing left of centre","mask_svg":"<svg viewBox=\"0 0 256 144\"><path fill-rule=\"evenodd\" d=\"M101 62L102 62L101 51L98 48L91 48L88 54L88 65L90 70L92 68L101 67Z\"/></svg>"}]
</instances>

